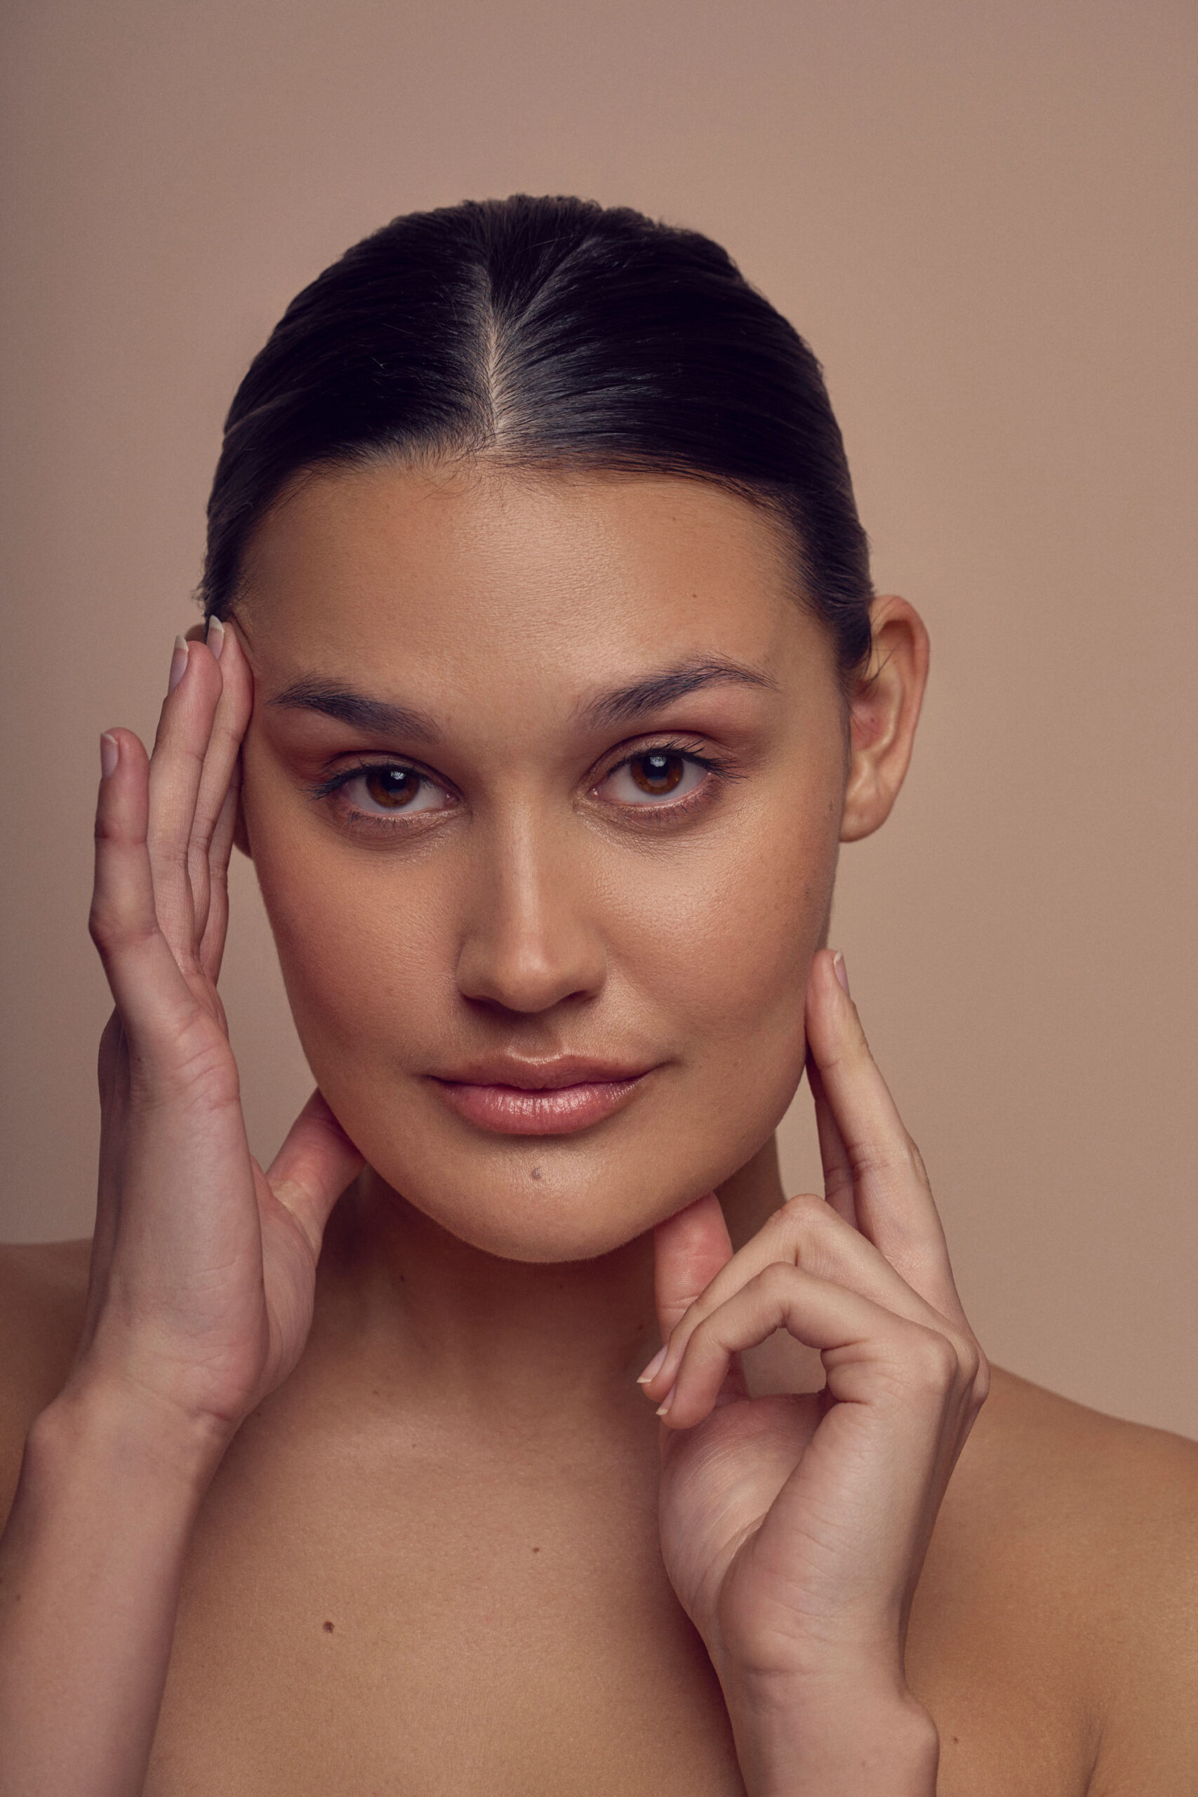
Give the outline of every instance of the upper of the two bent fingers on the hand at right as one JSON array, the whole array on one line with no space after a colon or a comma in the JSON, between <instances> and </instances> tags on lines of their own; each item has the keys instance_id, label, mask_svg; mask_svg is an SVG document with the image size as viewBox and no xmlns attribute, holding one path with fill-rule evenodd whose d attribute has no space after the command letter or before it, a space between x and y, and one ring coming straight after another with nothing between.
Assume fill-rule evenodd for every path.
<instances>
[{"instance_id":1,"label":"upper of the two bent fingers on the hand at right","mask_svg":"<svg viewBox=\"0 0 1198 1797\"><path fill-rule=\"evenodd\" d=\"M715 1274L706 1290L674 1326L665 1359L645 1380L650 1398L665 1396L677 1378L690 1339L709 1315L769 1267L803 1267L819 1279L842 1285L894 1315L930 1328L943 1317L914 1292L885 1256L830 1204L812 1193L790 1199L774 1211L751 1242Z\"/></svg>"}]
</instances>

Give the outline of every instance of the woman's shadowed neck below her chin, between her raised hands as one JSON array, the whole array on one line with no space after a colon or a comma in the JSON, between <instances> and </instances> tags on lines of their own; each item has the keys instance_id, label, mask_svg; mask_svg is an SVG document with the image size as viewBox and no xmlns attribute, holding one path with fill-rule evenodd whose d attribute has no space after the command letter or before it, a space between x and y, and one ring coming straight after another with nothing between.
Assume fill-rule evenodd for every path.
<instances>
[{"instance_id":1,"label":"woman's shadowed neck below her chin, between her raised hands","mask_svg":"<svg viewBox=\"0 0 1198 1797\"><path fill-rule=\"evenodd\" d=\"M718 1195L738 1247L783 1202L772 1138ZM436 1403L489 1412L591 1409L634 1396L657 1348L652 1231L598 1260L499 1260L366 1170L325 1235L318 1326L375 1385L415 1378Z\"/></svg>"}]
</instances>

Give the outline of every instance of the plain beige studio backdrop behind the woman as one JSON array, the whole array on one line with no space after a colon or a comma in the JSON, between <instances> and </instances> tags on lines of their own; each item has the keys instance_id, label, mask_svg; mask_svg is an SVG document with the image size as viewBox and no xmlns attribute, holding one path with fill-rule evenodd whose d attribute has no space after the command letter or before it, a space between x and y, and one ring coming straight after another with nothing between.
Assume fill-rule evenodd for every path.
<instances>
[{"instance_id":1,"label":"plain beige studio backdrop behind the woman","mask_svg":"<svg viewBox=\"0 0 1198 1797\"><path fill-rule=\"evenodd\" d=\"M23 0L5 23L0 1235L88 1227L95 737L153 728L223 410L395 212L695 225L824 359L934 640L835 938L995 1359L1198 1434L1189 0ZM305 1089L251 875L251 1132ZM812 1179L803 1114L792 1186Z\"/></svg>"}]
</instances>

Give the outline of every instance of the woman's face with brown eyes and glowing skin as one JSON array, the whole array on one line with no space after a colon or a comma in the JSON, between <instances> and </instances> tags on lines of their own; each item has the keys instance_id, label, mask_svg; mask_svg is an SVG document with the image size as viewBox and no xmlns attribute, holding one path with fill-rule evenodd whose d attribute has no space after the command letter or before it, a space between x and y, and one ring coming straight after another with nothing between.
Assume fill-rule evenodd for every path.
<instances>
[{"instance_id":1,"label":"woman's face with brown eyes and glowing skin","mask_svg":"<svg viewBox=\"0 0 1198 1797\"><path fill-rule=\"evenodd\" d=\"M749 503L374 467L264 521L244 827L313 1073L368 1163L510 1260L727 1179L803 1069L848 728Z\"/></svg>"}]
</instances>

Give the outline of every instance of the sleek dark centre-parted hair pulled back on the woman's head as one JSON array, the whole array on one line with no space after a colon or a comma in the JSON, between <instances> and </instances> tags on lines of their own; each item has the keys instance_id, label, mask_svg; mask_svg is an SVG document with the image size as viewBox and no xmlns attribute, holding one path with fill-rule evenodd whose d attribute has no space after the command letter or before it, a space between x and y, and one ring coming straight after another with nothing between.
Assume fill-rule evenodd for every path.
<instances>
[{"instance_id":1,"label":"sleek dark centre-parted hair pulled back on the woman's head","mask_svg":"<svg viewBox=\"0 0 1198 1797\"><path fill-rule=\"evenodd\" d=\"M436 455L733 489L790 527L841 668L868 654L869 555L823 372L699 232L515 194L413 212L347 250L237 388L205 611L235 602L246 541L295 474Z\"/></svg>"}]
</instances>

